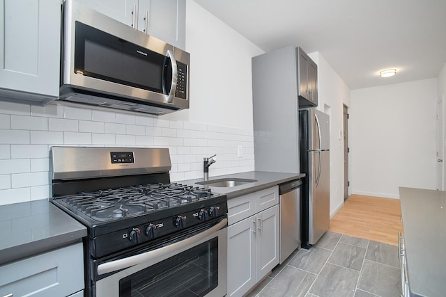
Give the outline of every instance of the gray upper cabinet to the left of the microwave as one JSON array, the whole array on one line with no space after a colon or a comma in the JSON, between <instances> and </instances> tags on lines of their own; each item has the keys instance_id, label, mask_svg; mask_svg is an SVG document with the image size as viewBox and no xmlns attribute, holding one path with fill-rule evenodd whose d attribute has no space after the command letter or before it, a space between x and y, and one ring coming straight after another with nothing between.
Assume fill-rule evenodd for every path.
<instances>
[{"instance_id":1,"label":"gray upper cabinet to the left of the microwave","mask_svg":"<svg viewBox=\"0 0 446 297\"><path fill-rule=\"evenodd\" d=\"M61 0L0 0L0 99L59 97ZM4 33L4 34L3 34Z\"/></svg>"}]
</instances>

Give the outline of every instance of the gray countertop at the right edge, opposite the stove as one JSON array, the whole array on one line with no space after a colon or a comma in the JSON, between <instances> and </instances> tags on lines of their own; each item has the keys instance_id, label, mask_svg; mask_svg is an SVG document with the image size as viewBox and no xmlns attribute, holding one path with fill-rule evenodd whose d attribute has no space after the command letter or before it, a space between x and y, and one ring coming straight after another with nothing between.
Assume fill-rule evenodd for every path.
<instances>
[{"instance_id":1,"label":"gray countertop at the right edge, opposite the stove","mask_svg":"<svg viewBox=\"0 0 446 297\"><path fill-rule=\"evenodd\" d=\"M446 192L399 188L411 296L445 296Z\"/></svg>"}]
</instances>

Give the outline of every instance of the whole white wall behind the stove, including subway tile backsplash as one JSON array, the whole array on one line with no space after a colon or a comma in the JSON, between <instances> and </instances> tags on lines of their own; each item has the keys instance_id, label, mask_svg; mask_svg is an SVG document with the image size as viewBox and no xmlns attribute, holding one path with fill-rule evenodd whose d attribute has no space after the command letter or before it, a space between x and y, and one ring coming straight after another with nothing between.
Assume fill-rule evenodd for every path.
<instances>
[{"instance_id":1,"label":"whole white wall behind the stove, including subway tile backsplash","mask_svg":"<svg viewBox=\"0 0 446 297\"><path fill-rule=\"evenodd\" d=\"M169 147L171 180L254 170L251 58L262 54L192 0L190 109L160 117L50 104L0 102L0 204L47 199L52 145ZM237 146L243 146L238 158Z\"/></svg>"}]
</instances>

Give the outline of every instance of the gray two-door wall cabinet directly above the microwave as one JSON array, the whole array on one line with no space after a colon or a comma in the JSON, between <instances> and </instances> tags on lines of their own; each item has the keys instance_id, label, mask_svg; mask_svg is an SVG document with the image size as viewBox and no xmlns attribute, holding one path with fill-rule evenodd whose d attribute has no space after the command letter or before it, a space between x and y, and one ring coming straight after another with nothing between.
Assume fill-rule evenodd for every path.
<instances>
[{"instance_id":1,"label":"gray two-door wall cabinet directly above the microwave","mask_svg":"<svg viewBox=\"0 0 446 297\"><path fill-rule=\"evenodd\" d=\"M104 15L185 49L184 0L77 0Z\"/></svg>"}]
</instances>

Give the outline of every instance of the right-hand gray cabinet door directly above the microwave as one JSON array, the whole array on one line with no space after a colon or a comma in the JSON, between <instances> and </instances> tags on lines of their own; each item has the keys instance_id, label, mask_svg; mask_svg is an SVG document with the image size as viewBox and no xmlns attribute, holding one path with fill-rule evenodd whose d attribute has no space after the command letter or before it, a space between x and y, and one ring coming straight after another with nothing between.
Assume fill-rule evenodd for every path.
<instances>
[{"instance_id":1,"label":"right-hand gray cabinet door directly above the microwave","mask_svg":"<svg viewBox=\"0 0 446 297\"><path fill-rule=\"evenodd\" d=\"M186 1L139 0L138 29L185 49Z\"/></svg>"}]
</instances>

